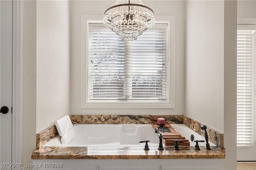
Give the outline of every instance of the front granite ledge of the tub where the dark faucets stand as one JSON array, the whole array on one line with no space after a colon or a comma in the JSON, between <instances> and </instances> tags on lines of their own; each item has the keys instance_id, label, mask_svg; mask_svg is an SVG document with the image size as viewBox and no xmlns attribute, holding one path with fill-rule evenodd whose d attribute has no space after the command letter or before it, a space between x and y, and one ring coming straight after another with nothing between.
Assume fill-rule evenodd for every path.
<instances>
[{"instance_id":1,"label":"front granite ledge of the tub where the dark faucets stand","mask_svg":"<svg viewBox=\"0 0 256 170\"><path fill-rule=\"evenodd\" d=\"M216 159L225 158L225 149L194 150L194 147L41 147L34 150L32 159Z\"/></svg>"}]
</instances>

